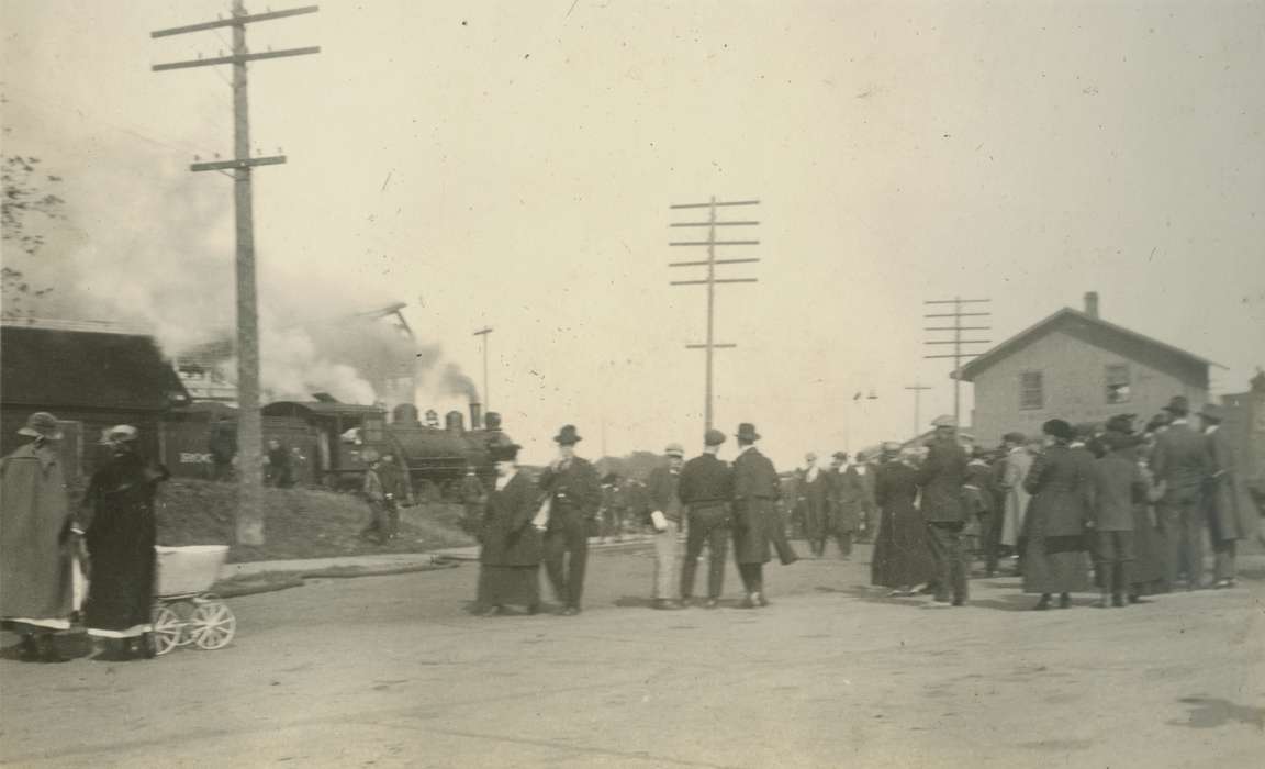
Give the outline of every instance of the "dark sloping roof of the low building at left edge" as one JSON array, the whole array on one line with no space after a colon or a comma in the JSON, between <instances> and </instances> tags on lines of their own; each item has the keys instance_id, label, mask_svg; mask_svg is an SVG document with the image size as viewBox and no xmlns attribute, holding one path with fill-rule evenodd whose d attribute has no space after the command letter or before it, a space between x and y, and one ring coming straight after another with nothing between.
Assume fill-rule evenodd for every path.
<instances>
[{"instance_id":1,"label":"dark sloping roof of the low building at left edge","mask_svg":"<svg viewBox=\"0 0 1265 769\"><path fill-rule=\"evenodd\" d=\"M5 405L162 411L188 393L151 336L0 326Z\"/></svg>"}]
</instances>

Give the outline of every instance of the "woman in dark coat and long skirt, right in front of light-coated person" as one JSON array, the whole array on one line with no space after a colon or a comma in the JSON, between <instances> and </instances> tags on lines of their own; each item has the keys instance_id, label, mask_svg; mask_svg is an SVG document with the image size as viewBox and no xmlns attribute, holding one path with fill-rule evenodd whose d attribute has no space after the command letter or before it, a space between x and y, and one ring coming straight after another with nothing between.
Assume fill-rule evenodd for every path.
<instances>
[{"instance_id":1,"label":"woman in dark coat and long skirt, right in front of light-coated person","mask_svg":"<svg viewBox=\"0 0 1265 769\"><path fill-rule=\"evenodd\" d=\"M1052 419L1041 429L1050 445L1037 455L1023 479L1023 487L1032 495L1026 521L1023 592L1041 593L1034 608L1050 608L1054 593L1059 593L1059 607L1068 608L1070 593L1089 589L1084 522L1089 517L1093 454L1069 448L1074 433L1061 419Z\"/></svg>"}]
</instances>

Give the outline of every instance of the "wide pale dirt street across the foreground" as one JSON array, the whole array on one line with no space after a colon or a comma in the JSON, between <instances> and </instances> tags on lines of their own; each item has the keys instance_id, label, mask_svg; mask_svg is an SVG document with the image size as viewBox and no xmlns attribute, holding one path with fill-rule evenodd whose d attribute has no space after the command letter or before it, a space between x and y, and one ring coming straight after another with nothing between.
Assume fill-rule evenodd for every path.
<instances>
[{"instance_id":1,"label":"wide pale dirt street across the foreground","mask_svg":"<svg viewBox=\"0 0 1265 769\"><path fill-rule=\"evenodd\" d=\"M803 548L801 548L802 550ZM466 612L477 565L235 598L237 641L149 663L5 660L11 766L1259 766L1265 586L1032 612L769 567L773 606L646 608L645 551L578 617ZM701 575L702 577L702 575ZM729 574L727 593L737 593Z\"/></svg>"}]
</instances>

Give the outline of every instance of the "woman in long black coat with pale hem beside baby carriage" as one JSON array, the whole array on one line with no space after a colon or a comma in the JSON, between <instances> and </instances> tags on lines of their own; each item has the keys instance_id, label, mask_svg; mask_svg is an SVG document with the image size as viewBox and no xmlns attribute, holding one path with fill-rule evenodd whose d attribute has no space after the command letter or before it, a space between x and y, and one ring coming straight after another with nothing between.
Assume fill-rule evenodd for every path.
<instances>
[{"instance_id":1,"label":"woman in long black coat with pale hem beside baby carriage","mask_svg":"<svg viewBox=\"0 0 1265 769\"><path fill-rule=\"evenodd\" d=\"M87 527L91 564L85 617L89 635L106 645L100 659L153 656L151 632L157 559L154 495L170 476L148 463L130 425L106 430L101 444L110 459L92 474L83 503L92 508Z\"/></svg>"}]
</instances>

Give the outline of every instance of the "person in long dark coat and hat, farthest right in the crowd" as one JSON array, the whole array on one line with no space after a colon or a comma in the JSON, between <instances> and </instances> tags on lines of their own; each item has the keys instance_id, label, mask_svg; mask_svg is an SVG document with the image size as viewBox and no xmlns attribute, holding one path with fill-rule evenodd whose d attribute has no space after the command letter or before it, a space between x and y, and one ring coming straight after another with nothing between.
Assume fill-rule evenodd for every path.
<instances>
[{"instance_id":1,"label":"person in long dark coat and hat, farthest right in the crowd","mask_svg":"<svg viewBox=\"0 0 1265 769\"><path fill-rule=\"evenodd\" d=\"M1242 478L1238 477L1235 445L1221 428L1225 416L1225 409L1214 403L1208 403L1199 414L1211 462L1208 484L1204 489L1204 510L1214 554L1213 587L1216 588L1235 586L1237 579L1235 554L1238 546L1236 543L1251 539L1259 526L1252 501L1243 488Z\"/></svg>"}]
</instances>

